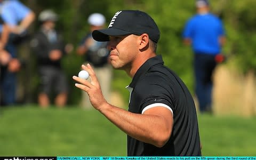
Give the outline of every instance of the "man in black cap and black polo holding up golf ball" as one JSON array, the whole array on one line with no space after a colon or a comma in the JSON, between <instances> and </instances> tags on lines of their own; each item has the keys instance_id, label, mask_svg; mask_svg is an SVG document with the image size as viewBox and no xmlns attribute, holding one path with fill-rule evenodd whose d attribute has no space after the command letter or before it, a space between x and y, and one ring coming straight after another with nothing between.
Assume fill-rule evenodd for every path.
<instances>
[{"instance_id":1,"label":"man in black cap and black polo holding up golf ball","mask_svg":"<svg viewBox=\"0 0 256 160\"><path fill-rule=\"evenodd\" d=\"M118 11L109 27L94 30L97 41L109 41L111 65L132 77L129 110L103 97L97 76L87 64L91 83L77 76L79 89L89 94L92 106L127 134L128 156L201 156L193 98L181 79L156 55L160 36L155 21L145 12Z\"/></svg>"}]
</instances>

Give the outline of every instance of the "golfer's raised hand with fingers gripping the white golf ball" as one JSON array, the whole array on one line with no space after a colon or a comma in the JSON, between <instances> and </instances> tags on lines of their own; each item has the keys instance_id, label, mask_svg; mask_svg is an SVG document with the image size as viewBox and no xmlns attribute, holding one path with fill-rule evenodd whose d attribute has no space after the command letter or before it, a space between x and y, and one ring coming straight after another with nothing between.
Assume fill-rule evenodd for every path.
<instances>
[{"instance_id":1,"label":"golfer's raised hand with fingers gripping the white golf ball","mask_svg":"<svg viewBox=\"0 0 256 160\"><path fill-rule=\"evenodd\" d=\"M91 82L86 81L85 79L79 78L77 76L73 76L73 79L78 82L75 84L75 86L87 92L92 103L92 106L95 109L100 110L100 108L107 103L107 101L103 97L100 83L90 64L87 64L86 66L82 65L82 69L86 70L89 73Z\"/></svg>"}]
</instances>

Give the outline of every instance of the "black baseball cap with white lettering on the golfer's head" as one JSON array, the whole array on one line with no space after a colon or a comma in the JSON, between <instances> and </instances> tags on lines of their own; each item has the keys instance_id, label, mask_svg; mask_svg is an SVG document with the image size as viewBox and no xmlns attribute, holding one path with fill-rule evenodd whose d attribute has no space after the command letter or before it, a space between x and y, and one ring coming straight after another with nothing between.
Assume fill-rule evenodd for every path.
<instances>
[{"instance_id":1,"label":"black baseball cap with white lettering on the golfer's head","mask_svg":"<svg viewBox=\"0 0 256 160\"><path fill-rule=\"evenodd\" d=\"M122 10L115 13L107 29L94 30L92 37L96 41L109 41L109 36L148 34L155 43L158 42L160 31L155 21L145 12L138 10Z\"/></svg>"}]
</instances>

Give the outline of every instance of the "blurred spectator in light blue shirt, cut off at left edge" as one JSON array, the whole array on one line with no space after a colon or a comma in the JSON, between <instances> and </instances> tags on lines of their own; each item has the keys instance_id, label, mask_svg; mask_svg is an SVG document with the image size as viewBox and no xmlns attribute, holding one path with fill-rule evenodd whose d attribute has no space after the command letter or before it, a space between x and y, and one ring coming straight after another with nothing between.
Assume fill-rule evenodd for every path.
<instances>
[{"instance_id":1,"label":"blurred spectator in light blue shirt, cut off at left edge","mask_svg":"<svg viewBox=\"0 0 256 160\"><path fill-rule=\"evenodd\" d=\"M1 65L1 105L14 105L16 103L16 73L20 70L21 62L17 58L15 41L26 35L27 28L34 21L34 12L18 0L0 0L1 17L10 28L9 40L5 50L10 53L8 65ZM0 28L2 33L3 28ZM2 44L1 44L2 46ZM7 54L5 54L7 55Z\"/></svg>"}]
</instances>

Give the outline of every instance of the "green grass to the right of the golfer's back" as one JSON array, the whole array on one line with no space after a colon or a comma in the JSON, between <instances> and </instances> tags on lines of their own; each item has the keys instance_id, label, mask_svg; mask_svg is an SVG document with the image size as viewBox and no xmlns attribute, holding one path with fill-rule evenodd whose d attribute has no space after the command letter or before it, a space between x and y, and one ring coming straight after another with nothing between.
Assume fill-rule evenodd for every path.
<instances>
[{"instance_id":1,"label":"green grass to the right of the golfer's back","mask_svg":"<svg viewBox=\"0 0 256 160\"><path fill-rule=\"evenodd\" d=\"M256 117L199 115L205 156L256 156Z\"/></svg>"}]
</instances>

